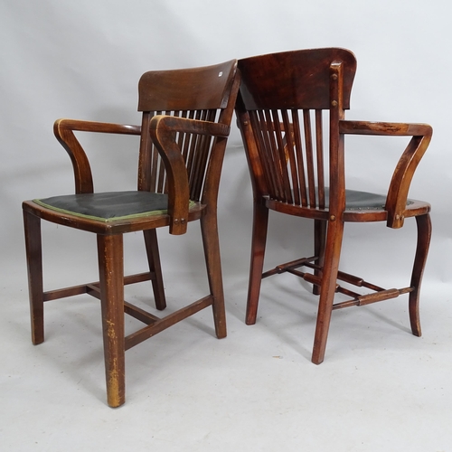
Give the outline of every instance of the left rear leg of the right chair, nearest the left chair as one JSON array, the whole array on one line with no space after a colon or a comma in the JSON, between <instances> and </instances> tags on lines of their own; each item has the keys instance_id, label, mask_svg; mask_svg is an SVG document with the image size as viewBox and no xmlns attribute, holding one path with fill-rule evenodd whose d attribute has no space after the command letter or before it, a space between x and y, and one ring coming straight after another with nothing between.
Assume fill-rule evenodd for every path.
<instances>
[{"instance_id":1,"label":"left rear leg of the right chair, nearest the left chair","mask_svg":"<svg viewBox=\"0 0 452 452\"><path fill-rule=\"evenodd\" d=\"M254 325L258 315L259 292L264 268L268 231L268 208L254 202L251 241L250 282L248 287L246 324Z\"/></svg>"}]
</instances>

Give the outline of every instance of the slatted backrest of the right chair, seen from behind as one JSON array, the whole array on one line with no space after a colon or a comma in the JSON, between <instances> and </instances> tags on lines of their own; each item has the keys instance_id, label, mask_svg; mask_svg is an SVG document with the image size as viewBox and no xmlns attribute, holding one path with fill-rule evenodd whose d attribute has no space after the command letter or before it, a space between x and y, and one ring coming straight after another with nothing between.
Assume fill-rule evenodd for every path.
<instances>
[{"instance_id":1,"label":"slatted backrest of the right chair, seen from behind","mask_svg":"<svg viewBox=\"0 0 452 452\"><path fill-rule=\"evenodd\" d=\"M236 111L255 193L322 209L329 176L331 208L334 193L344 190L339 120L350 108L353 53L335 48L272 53L240 60L239 70Z\"/></svg>"}]
</instances>

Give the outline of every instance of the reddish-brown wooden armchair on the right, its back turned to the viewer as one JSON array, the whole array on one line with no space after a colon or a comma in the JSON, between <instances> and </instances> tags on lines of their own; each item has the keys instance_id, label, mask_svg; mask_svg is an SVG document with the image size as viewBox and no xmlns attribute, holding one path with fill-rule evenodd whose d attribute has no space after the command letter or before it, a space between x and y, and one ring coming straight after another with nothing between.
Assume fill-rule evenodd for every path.
<instances>
[{"instance_id":1,"label":"reddish-brown wooden armchair on the right, its back turned to the viewer","mask_svg":"<svg viewBox=\"0 0 452 452\"><path fill-rule=\"evenodd\" d=\"M343 49L257 56L240 60L239 69L236 114L254 193L247 324L256 322L261 279L289 272L312 283L320 295L313 363L324 360L334 309L408 293L411 329L420 335L419 287L431 233L430 206L408 199L408 193L431 127L345 120L356 61ZM411 137L385 195L347 189L344 137L350 134ZM314 220L314 256L262 271L269 209ZM418 243L408 286L385 289L339 271L345 221L385 221L390 228L401 228L410 217L417 221ZM370 293L355 292L350 285ZM334 303L336 292L349 299Z\"/></svg>"}]
</instances>

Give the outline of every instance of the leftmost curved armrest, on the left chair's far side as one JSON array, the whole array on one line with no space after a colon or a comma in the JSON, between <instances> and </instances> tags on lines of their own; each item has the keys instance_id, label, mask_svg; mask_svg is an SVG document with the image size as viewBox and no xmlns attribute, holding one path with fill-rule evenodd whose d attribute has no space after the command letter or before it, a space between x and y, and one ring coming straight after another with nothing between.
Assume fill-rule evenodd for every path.
<instances>
[{"instance_id":1,"label":"leftmost curved armrest, on the left chair's far side","mask_svg":"<svg viewBox=\"0 0 452 452\"><path fill-rule=\"evenodd\" d=\"M140 126L110 124L77 119L57 119L53 125L53 133L71 157L74 169L75 193L93 193L91 168L88 157L75 137L74 131L98 132L108 134L140 135Z\"/></svg>"}]
</instances>

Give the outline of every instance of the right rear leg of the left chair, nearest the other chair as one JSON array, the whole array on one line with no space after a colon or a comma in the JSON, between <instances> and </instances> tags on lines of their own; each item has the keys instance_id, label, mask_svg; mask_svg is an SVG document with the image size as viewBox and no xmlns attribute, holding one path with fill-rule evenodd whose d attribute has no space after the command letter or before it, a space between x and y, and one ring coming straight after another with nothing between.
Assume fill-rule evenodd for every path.
<instances>
[{"instance_id":1,"label":"right rear leg of the left chair, nearest the other chair","mask_svg":"<svg viewBox=\"0 0 452 452\"><path fill-rule=\"evenodd\" d=\"M207 212L201 219L202 244L207 268L207 278L213 297L213 321L219 339L226 337L226 313L221 276L220 243L216 212Z\"/></svg>"}]
</instances>

